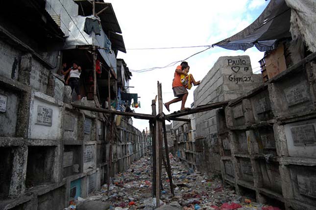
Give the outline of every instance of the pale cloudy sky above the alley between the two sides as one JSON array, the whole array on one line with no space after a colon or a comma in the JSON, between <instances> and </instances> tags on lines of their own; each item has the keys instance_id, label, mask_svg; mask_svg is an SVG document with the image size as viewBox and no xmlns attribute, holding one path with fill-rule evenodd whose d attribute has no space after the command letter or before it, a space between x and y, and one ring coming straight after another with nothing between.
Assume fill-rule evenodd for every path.
<instances>
[{"instance_id":1,"label":"pale cloudy sky above the alley between the two sides","mask_svg":"<svg viewBox=\"0 0 316 210\"><path fill-rule=\"evenodd\" d=\"M165 67L183 60L207 47L146 49L157 47L187 47L215 44L243 30L266 8L266 0L106 0L112 3L122 29L127 53L119 52L132 71L130 93L138 93L141 108L136 113L151 114L151 100L157 94L157 81L162 83L163 102L174 98L172 79L177 65L147 72L135 70ZM252 70L260 73L258 61L264 53L255 47L242 50L210 48L188 60L190 73L202 80L221 56L249 55ZM186 107L193 103L195 87L189 91ZM158 103L157 103L158 107ZM181 102L170 105L170 113L179 110ZM168 114L164 107L163 112ZM143 131L148 120L133 118L133 125Z\"/></svg>"}]
</instances>

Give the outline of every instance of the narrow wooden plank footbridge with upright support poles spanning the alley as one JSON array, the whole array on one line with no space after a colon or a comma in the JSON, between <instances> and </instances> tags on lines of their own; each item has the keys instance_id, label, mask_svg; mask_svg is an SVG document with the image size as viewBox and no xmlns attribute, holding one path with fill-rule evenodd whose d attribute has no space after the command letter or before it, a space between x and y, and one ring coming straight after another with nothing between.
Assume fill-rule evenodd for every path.
<instances>
[{"instance_id":1,"label":"narrow wooden plank footbridge with upright support poles spanning the alley","mask_svg":"<svg viewBox=\"0 0 316 210\"><path fill-rule=\"evenodd\" d=\"M225 107L228 105L228 101L205 104L205 105L197 106L196 108L193 108L193 109L177 111L169 115L165 115L162 111L163 110L162 88L161 88L161 83L159 83L159 81L157 82L157 87L158 87L158 114L156 113L157 95L155 99L152 100L152 103L151 103L151 108L152 108L151 115L142 114L142 113L120 112L120 111L101 109L101 108L96 108L96 107L88 107L88 106L78 105L76 103L72 103L72 106L80 110L88 110L92 112L109 114L112 119L114 118L114 115L121 115L121 116L128 116L128 117L135 117L138 119L149 120L149 127L150 127L151 139L152 139L152 147L151 147L152 148L152 155L151 155L152 197L156 197L156 207L158 208L159 203L160 203L160 187L162 186L161 184L162 183L161 182L162 163L164 164L167 174L168 174L168 178L170 181L170 191L174 195L165 120L190 122L191 119L186 119L186 118L181 118L181 117ZM113 124L114 124L114 121L111 120L110 144L112 144L113 138L114 138ZM165 154L163 152L163 140L165 143ZM111 150L112 148L110 149L110 154L112 153ZM166 155L166 160L165 160L165 155ZM110 162L111 162L111 159L110 159ZM109 184L110 184L109 183L110 168L111 168L111 163L109 163L109 166L108 166L108 180L107 180L108 181L107 183L108 195L109 195Z\"/></svg>"}]
</instances>

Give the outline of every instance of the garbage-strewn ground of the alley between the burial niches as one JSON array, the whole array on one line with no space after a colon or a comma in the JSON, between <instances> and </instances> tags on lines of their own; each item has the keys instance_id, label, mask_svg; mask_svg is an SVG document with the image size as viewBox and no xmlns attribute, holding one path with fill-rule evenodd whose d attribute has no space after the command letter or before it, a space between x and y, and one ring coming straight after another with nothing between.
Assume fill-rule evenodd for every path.
<instances>
[{"instance_id":1,"label":"garbage-strewn ground of the alley between the burial niches","mask_svg":"<svg viewBox=\"0 0 316 210\"><path fill-rule=\"evenodd\" d=\"M169 179L163 169L159 210L280 210L255 203L247 196L235 194L233 189L224 187L218 177L187 169L171 154L170 163L175 196L170 192ZM150 157L143 157L133 163L126 172L116 174L111 179L109 196L105 184L94 195L84 200L106 202L110 205L110 210L155 209L156 200L151 197Z\"/></svg>"}]
</instances>

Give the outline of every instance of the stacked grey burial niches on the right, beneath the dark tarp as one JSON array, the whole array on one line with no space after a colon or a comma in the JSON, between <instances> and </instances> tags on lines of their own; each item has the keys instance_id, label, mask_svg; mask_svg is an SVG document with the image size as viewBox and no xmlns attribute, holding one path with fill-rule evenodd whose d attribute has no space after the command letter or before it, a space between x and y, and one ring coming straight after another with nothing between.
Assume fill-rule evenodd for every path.
<instances>
[{"instance_id":1,"label":"stacked grey burial niches on the right, beneath the dark tarp","mask_svg":"<svg viewBox=\"0 0 316 210\"><path fill-rule=\"evenodd\" d=\"M232 100L219 120L223 182L286 210L316 205L316 54Z\"/></svg>"}]
</instances>

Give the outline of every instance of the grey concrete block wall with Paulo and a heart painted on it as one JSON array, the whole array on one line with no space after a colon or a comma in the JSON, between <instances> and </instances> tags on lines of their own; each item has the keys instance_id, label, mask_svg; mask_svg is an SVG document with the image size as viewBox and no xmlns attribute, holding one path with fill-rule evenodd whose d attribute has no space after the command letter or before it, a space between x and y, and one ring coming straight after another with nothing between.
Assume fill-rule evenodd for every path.
<instances>
[{"instance_id":1,"label":"grey concrete block wall with Paulo and a heart painted on it","mask_svg":"<svg viewBox=\"0 0 316 210\"><path fill-rule=\"evenodd\" d=\"M260 84L261 75L252 73L249 56L220 57L194 90L194 106L235 99ZM247 109L251 106L249 101L243 104ZM240 108L235 110L238 112ZM219 130L224 125L218 115L218 110L195 114L196 144L203 147L196 154L199 157L196 164L200 170L220 174L223 167L219 164L220 152L223 151L219 149ZM243 119L237 121L243 123Z\"/></svg>"}]
</instances>

